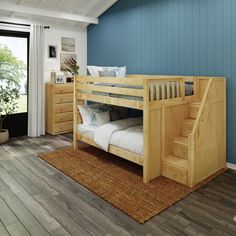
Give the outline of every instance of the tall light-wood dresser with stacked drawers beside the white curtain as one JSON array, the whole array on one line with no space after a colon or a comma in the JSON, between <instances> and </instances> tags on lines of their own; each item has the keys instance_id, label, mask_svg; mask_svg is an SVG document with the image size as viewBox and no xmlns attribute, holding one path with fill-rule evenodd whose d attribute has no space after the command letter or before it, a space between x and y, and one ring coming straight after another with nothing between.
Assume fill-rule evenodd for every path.
<instances>
[{"instance_id":1,"label":"tall light-wood dresser with stacked drawers beside the white curtain","mask_svg":"<svg viewBox=\"0 0 236 236\"><path fill-rule=\"evenodd\" d=\"M46 132L73 131L73 83L46 84Z\"/></svg>"}]
</instances>

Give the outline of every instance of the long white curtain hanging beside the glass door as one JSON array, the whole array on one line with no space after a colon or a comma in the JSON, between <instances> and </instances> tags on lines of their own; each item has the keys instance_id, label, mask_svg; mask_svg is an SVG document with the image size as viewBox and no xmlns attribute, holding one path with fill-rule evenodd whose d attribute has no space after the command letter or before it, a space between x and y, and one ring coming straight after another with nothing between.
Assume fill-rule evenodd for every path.
<instances>
[{"instance_id":1,"label":"long white curtain hanging beside the glass door","mask_svg":"<svg viewBox=\"0 0 236 236\"><path fill-rule=\"evenodd\" d=\"M29 52L28 136L45 134L44 115L44 26L31 25Z\"/></svg>"}]
</instances>

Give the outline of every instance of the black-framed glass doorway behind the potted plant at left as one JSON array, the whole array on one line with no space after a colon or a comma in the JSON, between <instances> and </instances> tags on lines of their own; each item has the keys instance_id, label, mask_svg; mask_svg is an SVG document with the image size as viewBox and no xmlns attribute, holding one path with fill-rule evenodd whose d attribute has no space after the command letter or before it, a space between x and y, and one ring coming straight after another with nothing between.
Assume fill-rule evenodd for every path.
<instances>
[{"instance_id":1,"label":"black-framed glass doorway behind the potted plant at left","mask_svg":"<svg viewBox=\"0 0 236 236\"><path fill-rule=\"evenodd\" d=\"M29 32L0 30L0 82L16 89L16 108L3 123L10 137L27 135Z\"/></svg>"}]
</instances>

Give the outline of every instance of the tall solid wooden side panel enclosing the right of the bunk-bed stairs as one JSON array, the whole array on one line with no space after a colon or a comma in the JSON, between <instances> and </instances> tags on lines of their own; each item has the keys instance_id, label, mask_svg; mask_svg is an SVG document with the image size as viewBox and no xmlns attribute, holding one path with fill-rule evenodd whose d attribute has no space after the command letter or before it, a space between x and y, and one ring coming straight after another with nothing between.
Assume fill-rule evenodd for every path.
<instances>
[{"instance_id":1,"label":"tall solid wooden side panel enclosing the right of the bunk-bed stairs","mask_svg":"<svg viewBox=\"0 0 236 236\"><path fill-rule=\"evenodd\" d=\"M191 186L226 165L226 97L225 80L204 79L205 92L189 135ZM200 80L201 86L202 80ZM201 147L201 148L199 148Z\"/></svg>"}]
</instances>

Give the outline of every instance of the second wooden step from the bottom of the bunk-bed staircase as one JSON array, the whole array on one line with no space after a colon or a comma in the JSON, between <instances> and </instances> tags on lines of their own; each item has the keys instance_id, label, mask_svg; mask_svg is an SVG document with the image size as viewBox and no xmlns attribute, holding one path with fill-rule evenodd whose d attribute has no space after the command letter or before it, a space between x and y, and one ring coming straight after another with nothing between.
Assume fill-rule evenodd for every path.
<instances>
[{"instance_id":1,"label":"second wooden step from the bottom of the bunk-bed staircase","mask_svg":"<svg viewBox=\"0 0 236 236\"><path fill-rule=\"evenodd\" d=\"M188 138L178 137L173 141L173 155L187 159L188 158Z\"/></svg>"}]
</instances>

